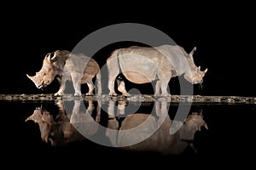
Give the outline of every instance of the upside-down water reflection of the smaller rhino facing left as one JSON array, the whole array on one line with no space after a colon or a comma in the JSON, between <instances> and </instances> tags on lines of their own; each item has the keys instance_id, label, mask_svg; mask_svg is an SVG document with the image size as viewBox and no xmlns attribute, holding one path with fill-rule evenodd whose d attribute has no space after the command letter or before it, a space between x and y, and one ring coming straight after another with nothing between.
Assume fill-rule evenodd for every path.
<instances>
[{"instance_id":1,"label":"upside-down water reflection of the smaller rhino facing left","mask_svg":"<svg viewBox=\"0 0 256 170\"><path fill-rule=\"evenodd\" d=\"M51 145L65 145L73 141L84 140L84 136L78 131L79 128L84 128L88 135L96 133L98 123L95 122L91 113L95 106L93 101L89 100L87 109L80 109L83 100L74 100L73 111L65 112L62 100L56 103L59 107L59 113L53 117L49 111L42 108L34 110L32 116L28 116L26 121L38 123L41 138L44 142L50 142ZM99 111L99 110L97 110ZM96 120L99 120L99 115L96 115Z\"/></svg>"}]
</instances>

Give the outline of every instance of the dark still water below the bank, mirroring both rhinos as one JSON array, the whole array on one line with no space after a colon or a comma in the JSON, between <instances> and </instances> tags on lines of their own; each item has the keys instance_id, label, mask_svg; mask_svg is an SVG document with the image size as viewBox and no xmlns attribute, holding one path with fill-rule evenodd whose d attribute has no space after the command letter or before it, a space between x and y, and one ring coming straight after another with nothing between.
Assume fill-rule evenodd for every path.
<instances>
[{"instance_id":1,"label":"dark still water below the bank, mirroring both rhinos","mask_svg":"<svg viewBox=\"0 0 256 170\"><path fill-rule=\"evenodd\" d=\"M191 105L178 118L165 101L0 105L2 154L20 167L247 167L256 153L255 105Z\"/></svg>"}]
</instances>

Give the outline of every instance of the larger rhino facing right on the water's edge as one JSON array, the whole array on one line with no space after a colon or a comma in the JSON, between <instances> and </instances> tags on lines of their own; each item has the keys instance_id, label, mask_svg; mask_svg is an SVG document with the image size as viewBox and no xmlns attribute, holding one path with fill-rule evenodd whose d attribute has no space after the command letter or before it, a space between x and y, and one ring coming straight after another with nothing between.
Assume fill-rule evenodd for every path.
<instances>
[{"instance_id":1,"label":"larger rhino facing right on the water's edge","mask_svg":"<svg viewBox=\"0 0 256 170\"><path fill-rule=\"evenodd\" d=\"M109 95L117 95L114 82L119 72L122 72L127 80L137 84L156 81L154 96L171 95L167 92L167 86L172 77L183 75L192 84L202 83L207 69L201 71L201 66L195 65L195 50L196 47L187 54L184 48L178 45L115 49L107 59ZM124 81L118 81L118 90L125 96L130 95L125 90Z\"/></svg>"}]
</instances>

